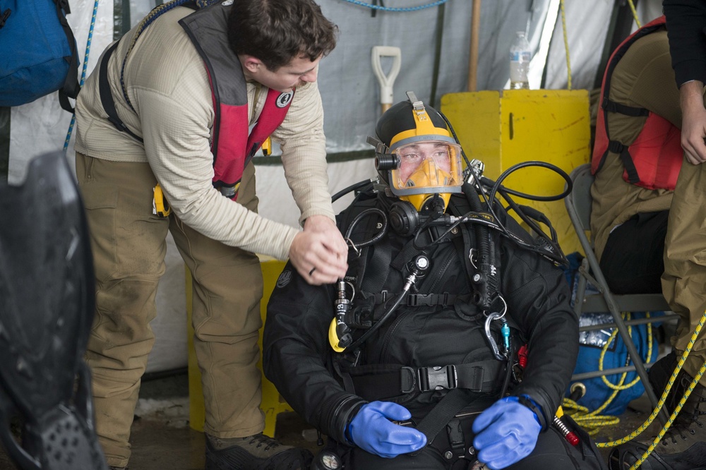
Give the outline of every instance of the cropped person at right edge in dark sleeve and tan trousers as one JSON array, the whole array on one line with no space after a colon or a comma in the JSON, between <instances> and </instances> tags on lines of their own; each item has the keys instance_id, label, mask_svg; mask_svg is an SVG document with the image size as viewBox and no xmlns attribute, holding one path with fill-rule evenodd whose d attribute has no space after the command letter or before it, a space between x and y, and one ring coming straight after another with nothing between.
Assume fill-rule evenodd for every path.
<instances>
[{"instance_id":1,"label":"cropped person at right edge in dark sleeve and tan trousers","mask_svg":"<svg viewBox=\"0 0 706 470\"><path fill-rule=\"evenodd\" d=\"M706 309L706 109L703 88L706 83L706 2L703 0L664 0L671 65L679 87L681 107L681 146L684 161L674 188L669 210L664 251L662 291L671 309L681 319L671 339L674 354L668 367L659 361L650 370L650 381L662 369L662 384L677 365ZM665 359L670 358L666 356ZM706 337L701 332L683 364L667 406L672 408L693 382L706 361ZM664 372L666 370L666 373ZM676 391L674 391L676 390ZM672 428L650 454L642 468L659 470L706 469L706 375L703 376ZM615 468L628 468L650 442L621 446ZM614 452L615 455L615 452ZM611 466L611 468L614 468Z\"/></svg>"}]
</instances>

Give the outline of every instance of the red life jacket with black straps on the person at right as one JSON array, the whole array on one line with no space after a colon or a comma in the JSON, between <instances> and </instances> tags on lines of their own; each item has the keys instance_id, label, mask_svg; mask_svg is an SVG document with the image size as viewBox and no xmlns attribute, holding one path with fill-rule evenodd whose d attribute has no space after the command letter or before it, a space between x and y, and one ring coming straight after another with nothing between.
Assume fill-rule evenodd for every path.
<instances>
[{"instance_id":1,"label":"red life jacket with black straps on the person at right","mask_svg":"<svg viewBox=\"0 0 706 470\"><path fill-rule=\"evenodd\" d=\"M606 155L610 151L620 156L623 167L625 167L623 179L628 183L648 189L674 190L676 186L676 179L683 162L681 131L662 116L658 116L648 109L630 107L609 100L611 76L618 61L623 58L628 48L636 40L664 28L664 25L664 16L647 23L628 36L611 55L601 87L602 112L598 113L596 122L596 138L591 159L592 174L596 174L601 169ZM618 140L611 139L608 128L609 112L635 118L647 116L635 142L624 145ZM635 126L638 125L638 119L635 119Z\"/></svg>"}]
</instances>

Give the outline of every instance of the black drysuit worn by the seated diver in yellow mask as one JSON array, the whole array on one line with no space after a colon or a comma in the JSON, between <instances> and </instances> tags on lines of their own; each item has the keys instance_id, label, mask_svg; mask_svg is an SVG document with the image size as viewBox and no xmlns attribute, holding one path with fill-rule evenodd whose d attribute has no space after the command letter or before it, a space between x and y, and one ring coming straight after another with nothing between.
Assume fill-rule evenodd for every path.
<instances>
[{"instance_id":1,"label":"black drysuit worn by the seated diver in yellow mask","mask_svg":"<svg viewBox=\"0 0 706 470\"><path fill-rule=\"evenodd\" d=\"M356 215L371 207L387 214L395 201L383 193L361 194L338 216L339 228L347 234ZM461 215L468 211L467 207L464 195L453 195L447 212ZM528 243L532 242L507 215L503 224L512 227ZM350 239L356 245L364 244L380 232L381 225L385 223L376 213L364 215L355 224ZM453 365L460 370L459 366L464 364L482 365L484 371L473 386L476 390L465 391L463 411L482 411L500 398L503 382L508 381L510 394L527 394L539 405L543 430L553 428L554 413L578 354L578 321L570 308L563 271L537 253L518 247L499 231L489 229L500 258L499 291L507 303L505 318L513 332L511 362L517 362L517 349L522 344L529 351L522 381L517 382L511 377L512 370L506 369L506 362L493 356L484 332L486 315L472 301L474 290L469 279L475 271L467 256L474 244L474 227L461 224L443 234L446 229L433 227L422 231L417 237L421 251L411 242L411 236L400 236L389 226L380 240L359 250L359 257L351 250L346 280L356 287L352 303L354 311L360 313L361 324L371 317L379 320L402 292L409 263L415 256L424 254L431 260L426 275L417 280L410 295L359 351L335 353L329 344L328 330L337 299L335 285L311 286L288 264L270 298L263 340L265 375L295 411L336 443L338 452L357 454L345 457L349 463L357 462L355 468L411 468L409 459L417 459L417 464L421 459L431 459L424 460L424 468L447 468L441 457L443 451L432 451L429 446L417 456L403 455L390 460L357 448L356 452L349 452L345 445L348 442L345 427L366 402L381 399L402 404L412 412L415 424L439 402L448 392L445 388L434 390L432 384L431 390L424 390L419 383L410 385L409 380L404 381L412 375L419 378L417 368ZM347 288L349 299L351 295L352 289ZM493 303L493 308L500 312L502 303ZM497 333L500 322L493 321L491 326L492 336L502 351L503 342ZM364 331L354 329L354 337ZM400 372L403 366L409 369ZM410 370L414 371L412 375ZM479 378L478 374L471 375ZM401 379L403 384L398 385ZM462 427L467 448L472 435L469 426ZM448 439L445 440L445 430L441 434L435 441L443 447ZM532 461L530 466L512 468L539 468L539 465L546 469L601 468L587 436L585 441L569 451L570 446L556 430L542 432L537 449L525 460L530 462L544 447L542 452L554 455L540 457L543 459ZM543 442L547 445L542 445ZM575 455L568 457L571 452ZM395 466L395 461L404 462ZM431 462L438 462L438 466ZM547 466L549 462L558 466Z\"/></svg>"}]
</instances>

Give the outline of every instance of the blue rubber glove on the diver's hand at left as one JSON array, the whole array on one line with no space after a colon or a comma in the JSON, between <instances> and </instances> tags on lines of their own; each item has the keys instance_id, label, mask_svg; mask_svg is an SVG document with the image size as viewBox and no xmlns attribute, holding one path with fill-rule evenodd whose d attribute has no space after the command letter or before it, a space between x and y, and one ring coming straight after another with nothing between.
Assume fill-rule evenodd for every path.
<instances>
[{"instance_id":1,"label":"blue rubber glove on the diver's hand at left","mask_svg":"<svg viewBox=\"0 0 706 470\"><path fill-rule=\"evenodd\" d=\"M391 423L412 417L404 406L391 402L371 402L359 409L348 425L353 442L371 454L392 459L426 445L426 435L414 428Z\"/></svg>"}]
</instances>

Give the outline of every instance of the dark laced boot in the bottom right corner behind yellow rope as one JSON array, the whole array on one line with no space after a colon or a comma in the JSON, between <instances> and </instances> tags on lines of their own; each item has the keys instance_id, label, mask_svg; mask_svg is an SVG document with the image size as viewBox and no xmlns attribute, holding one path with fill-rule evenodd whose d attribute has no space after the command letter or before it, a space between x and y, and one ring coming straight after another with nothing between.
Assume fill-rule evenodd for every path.
<instances>
[{"instance_id":1,"label":"dark laced boot in the bottom right corner behind yellow rope","mask_svg":"<svg viewBox=\"0 0 706 470\"><path fill-rule=\"evenodd\" d=\"M687 373L680 373L678 390L687 390L692 382ZM675 403L681 396L674 396ZM706 470L706 387L696 385L664 438L640 465L642 470ZM654 439L654 438L653 438ZM611 470L627 470L642 457L652 439L631 440L611 451Z\"/></svg>"}]
</instances>

